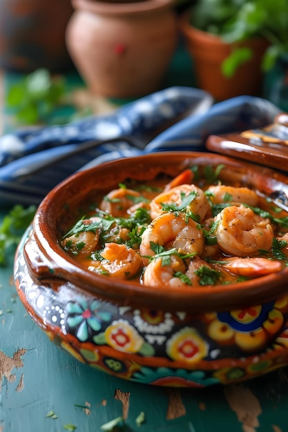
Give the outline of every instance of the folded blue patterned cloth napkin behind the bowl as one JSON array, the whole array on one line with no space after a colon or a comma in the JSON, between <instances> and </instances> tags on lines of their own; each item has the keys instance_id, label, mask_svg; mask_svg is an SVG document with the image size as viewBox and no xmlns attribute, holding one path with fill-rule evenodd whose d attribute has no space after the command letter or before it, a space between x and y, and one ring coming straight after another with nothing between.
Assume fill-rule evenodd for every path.
<instances>
[{"instance_id":1,"label":"folded blue patterned cloth napkin behind the bowl","mask_svg":"<svg viewBox=\"0 0 288 432\"><path fill-rule=\"evenodd\" d=\"M279 112L269 101L249 96L213 105L207 92L177 86L112 114L16 130L0 138L0 208L37 205L75 171L104 161L166 150L204 151L209 135L265 126Z\"/></svg>"}]
</instances>

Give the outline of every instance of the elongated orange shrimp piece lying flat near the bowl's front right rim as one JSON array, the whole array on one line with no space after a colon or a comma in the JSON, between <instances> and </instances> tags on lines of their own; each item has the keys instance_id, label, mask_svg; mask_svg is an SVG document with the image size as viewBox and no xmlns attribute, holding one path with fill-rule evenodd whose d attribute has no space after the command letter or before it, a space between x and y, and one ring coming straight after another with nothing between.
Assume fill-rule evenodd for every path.
<instances>
[{"instance_id":1,"label":"elongated orange shrimp piece lying flat near the bowl's front right rim","mask_svg":"<svg viewBox=\"0 0 288 432\"><path fill-rule=\"evenodd\" d=\"M247 277L259 277L269 275L270 273L277 273L282 270L280 261L273 261L273 259L260 257L226 258L222 260L222 267L231 271L233 274Z\"/></svg>"}]
</instances>

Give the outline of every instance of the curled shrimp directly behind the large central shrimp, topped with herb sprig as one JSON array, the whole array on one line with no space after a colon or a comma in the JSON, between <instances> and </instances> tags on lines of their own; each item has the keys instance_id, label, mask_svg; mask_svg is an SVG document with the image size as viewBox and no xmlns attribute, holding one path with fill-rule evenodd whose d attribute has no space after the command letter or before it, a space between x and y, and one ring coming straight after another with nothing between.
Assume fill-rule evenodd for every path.
<instances>
[{"instance_id":1,"label":"curled shrimp directly behind the large central shrimp, topped with herb sprig","mask_svg":"<svg viewBox=\"0 0 288 432\"><path fill-rule=\"evenodd\" d=\"M175 186L175 188L164 190L164 192L152 199L150 203L151 219L155 219L155 217L164 213L162 204L181 206L183 197L188 197L189 195L191 196L191 202L187 208L195 215L199 215L201 221L209 210L209 202L204 191L194 184Z\"/></svg>"}]
</instances>

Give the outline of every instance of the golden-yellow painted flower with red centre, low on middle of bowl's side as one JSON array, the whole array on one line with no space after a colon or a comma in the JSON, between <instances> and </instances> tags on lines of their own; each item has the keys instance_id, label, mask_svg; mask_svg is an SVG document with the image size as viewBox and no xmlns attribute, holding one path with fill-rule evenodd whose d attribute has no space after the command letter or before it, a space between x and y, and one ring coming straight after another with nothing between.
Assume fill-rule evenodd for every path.
<instances>
[{"instance_id":1,"label":"golden-yellow painted flower with red centre, low on middle of bowl's side","mask_svg":"<svg viewBox=\"0 0 288 432\"><path fill-rule=\"evenodd\" d=\"M173 360L195 363L207 355L208 345L195 328L185 327L167 342L166 352Z\"/></svg>"}]
</instances>

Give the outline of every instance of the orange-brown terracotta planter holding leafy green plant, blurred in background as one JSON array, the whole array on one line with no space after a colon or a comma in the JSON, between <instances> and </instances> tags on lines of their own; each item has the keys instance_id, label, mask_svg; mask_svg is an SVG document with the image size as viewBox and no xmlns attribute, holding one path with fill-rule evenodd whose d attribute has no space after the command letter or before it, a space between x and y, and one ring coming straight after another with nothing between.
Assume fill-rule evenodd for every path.
<instances>
[{"instance_id":1,"label":"orange-brown terracotta planter holding leafy green plant, blurred in background","mask_svg":"<svg viewBox=\"0 0 288 432\"><path fill-rule=\"evenodd\" d=\"M231 54L233 46L225 43L218 36L194 28L187 16L182 16L179 23L187 50L193 59L198 87L210 92L218 101L260 93L262 86L260 64L268 46L265 39L255 38L238 44L241 47L251 48L253 56L236 70L233 77L227 78L221 71L221 64Z\"/></svg>"}]
</instances>

